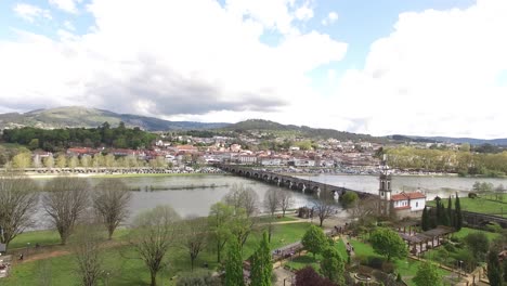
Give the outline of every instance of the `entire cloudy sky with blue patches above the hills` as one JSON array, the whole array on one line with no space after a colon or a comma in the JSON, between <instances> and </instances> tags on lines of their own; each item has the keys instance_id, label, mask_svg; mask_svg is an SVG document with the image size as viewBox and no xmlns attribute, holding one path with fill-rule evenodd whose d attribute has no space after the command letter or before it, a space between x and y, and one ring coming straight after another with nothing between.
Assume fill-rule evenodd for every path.
<instances>
[{"instance_id":1,"label":"entire cloudy sky with blue patches above the hills","mask_svg":"<svg viewBox=\"0 0 507 286\"><path fill-rule=\"evenodd\" d=\"M0 0L0 113L507 138L506 0Z\"/></svg>"}]
</instances>

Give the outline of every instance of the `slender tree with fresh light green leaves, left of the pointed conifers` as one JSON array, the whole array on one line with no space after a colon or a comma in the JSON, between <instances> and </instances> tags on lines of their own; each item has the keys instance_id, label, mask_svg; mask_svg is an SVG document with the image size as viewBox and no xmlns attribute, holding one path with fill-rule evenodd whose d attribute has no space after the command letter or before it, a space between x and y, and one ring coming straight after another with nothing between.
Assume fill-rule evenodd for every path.
<instances>
[{"instance_id":1,"label":"slender tree with fresh light green leaves, left of the pointed conifers","mask_svg":"<svg viewBox=\"0 0 507 286\"><path fill-rule=\"evenodd\" d=\"M222 249L231 235L231 220L234 209L222 203L211 206L208 216L208 225L216 243L217 262L221 262Z\"/></svg>"}]
</instances>

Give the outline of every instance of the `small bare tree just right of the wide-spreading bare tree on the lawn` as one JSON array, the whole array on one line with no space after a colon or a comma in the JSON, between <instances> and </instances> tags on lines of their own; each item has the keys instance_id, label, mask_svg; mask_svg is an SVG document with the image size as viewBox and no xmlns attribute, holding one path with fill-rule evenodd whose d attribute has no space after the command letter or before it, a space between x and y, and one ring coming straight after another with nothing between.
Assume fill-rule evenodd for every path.
<instances>
[{"instance_id":1,"label":"small bare tree just right of the wide-spreading bare tree on the lawn","mask_svg":"<svg viewBox=\"0 0 507 286\"><path fill-rule=\"evenodd\" d=\"M183 222L181 244L188 251L191 258L191 271L194 271L194 262L197 256L206 247L208 235L208 222L206 218L191 217Z\"/></svg>"}]
</instances>

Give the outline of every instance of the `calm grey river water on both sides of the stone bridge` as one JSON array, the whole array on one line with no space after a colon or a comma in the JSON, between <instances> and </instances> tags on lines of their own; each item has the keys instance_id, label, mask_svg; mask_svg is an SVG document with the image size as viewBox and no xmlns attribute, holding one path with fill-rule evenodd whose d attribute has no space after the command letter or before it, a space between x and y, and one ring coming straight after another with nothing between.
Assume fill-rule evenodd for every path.
<instances>
[{"instance_id":1,"label":"calm grey river water on both sides of the stone bridge","mask_svg":"<svg viewBox=\"0 0 507 286\"><path fill-rule=\"evenodd\" d=\"M378 192L378 177L375 176L318 174L298 177L373 194ZM43 183L46 180L40 179L38 181ZM94 185L103 179L91 177L89 180ZM117 180L122 180L131 188L142 190L132 191L130 218L157 205L170 205L181 217L191 214L207 216L210 206L220 202L234 184L251 187L258 194L260 202L262 202L265 192L270 187L277 187L263 182L225 174L132 177ZM476 181L491 182L495 186L498 184L507 186L507 179L400 176L393 177L392 188L393 194L402 191L420 190L427 194L428 199L433 199L437 195L448 197L456 192L460 196L466 196L466 193L470 192ZM150 191L150 188L156 191ZM294 208L311 206L315 199L313 196L287 188L280 188L280 192L292 193ZM259 205L262 210L262 204ZM49 227L48 218L46 218L41 208L39 208L36 218L38 221L36 229Z\"/></svg>"}]
</instances>

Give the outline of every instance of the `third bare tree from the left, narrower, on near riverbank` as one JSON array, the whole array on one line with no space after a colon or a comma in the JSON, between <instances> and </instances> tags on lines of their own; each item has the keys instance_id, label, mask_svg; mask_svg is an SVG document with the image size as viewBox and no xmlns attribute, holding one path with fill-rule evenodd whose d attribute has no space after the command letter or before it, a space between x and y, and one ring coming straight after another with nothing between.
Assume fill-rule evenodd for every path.
<instances>
[{"instance_id":1,"label":"third bare tree from the left, narrower, on near riverbank","mask_svg":"<svg viewBox=\"0 0 507 286\"><path fill-rule=\"evenodd\" d=\"M112 239L116 227L129 216L129 203L132 194L122 181L104 179L92 195L93 208L107 229L108 239Z\"/></svg>"}]
</instances>

